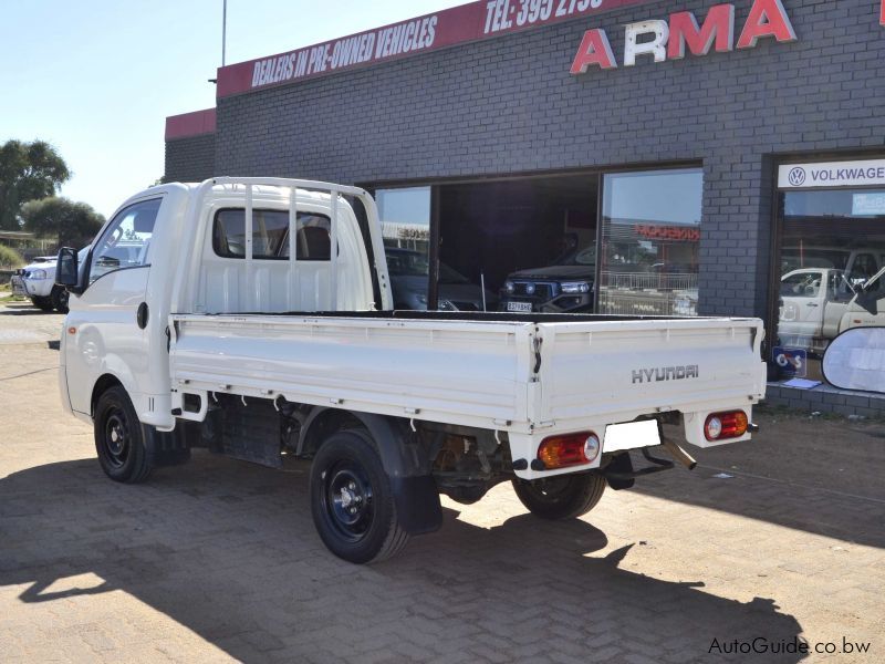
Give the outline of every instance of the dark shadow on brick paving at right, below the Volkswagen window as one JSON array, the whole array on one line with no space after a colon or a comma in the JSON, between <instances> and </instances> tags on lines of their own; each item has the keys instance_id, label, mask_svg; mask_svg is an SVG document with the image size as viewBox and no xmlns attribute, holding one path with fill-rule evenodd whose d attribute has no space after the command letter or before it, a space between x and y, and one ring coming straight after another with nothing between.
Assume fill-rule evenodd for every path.
<instances>
[{"instance_id":1,"label":"dark shadow on brick paving at right, below the Volkswagen window","mask_svg":"<svg viewBox=\"0 0 885 664\"><path fill-rule=\"evenodd\" d=\"M699 461L690 477L677 465L633 490L885 548L885 425L798 413L757 421L762 430L750 443L687 446Z\"/></svg>"}]
</instances>

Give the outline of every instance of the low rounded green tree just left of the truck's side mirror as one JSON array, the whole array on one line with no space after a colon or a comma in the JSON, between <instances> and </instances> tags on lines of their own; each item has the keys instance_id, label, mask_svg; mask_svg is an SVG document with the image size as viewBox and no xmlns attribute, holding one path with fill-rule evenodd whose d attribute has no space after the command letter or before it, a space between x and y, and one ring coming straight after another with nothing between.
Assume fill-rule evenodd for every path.
<instances>
[{"instance_id":1,"label":"low rounded green tree just left of the truck's side mirror","mask_svg":"<svg viewBox=\"0 0 885 664\"><path fill-rule=\"evenodd\" d=\"M21 216L25 230L38 237L55 237L59 247L87 245L104 224L104 217L92 206L56 197L25 203Z\"/></svg>"}]
</instances>

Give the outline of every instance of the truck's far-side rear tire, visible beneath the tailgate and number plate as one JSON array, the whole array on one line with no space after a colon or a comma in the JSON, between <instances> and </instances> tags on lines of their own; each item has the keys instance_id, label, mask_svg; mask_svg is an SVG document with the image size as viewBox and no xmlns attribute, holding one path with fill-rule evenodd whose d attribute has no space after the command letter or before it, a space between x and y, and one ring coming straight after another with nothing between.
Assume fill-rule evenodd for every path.
<instances>
[{"instance_id":1,"label":"truck's far-side rear tire, visible beneath the tailgate and number plate","mask_svg":"<svg viewBox=\"0 0 885 664\"><path fill-rule=\"evenodd\" d=\"M606 484L603 476L592 473L512 483L517 497L530 512L555 521L587 513L596 507Z\"/></svg>"}]
</instances>

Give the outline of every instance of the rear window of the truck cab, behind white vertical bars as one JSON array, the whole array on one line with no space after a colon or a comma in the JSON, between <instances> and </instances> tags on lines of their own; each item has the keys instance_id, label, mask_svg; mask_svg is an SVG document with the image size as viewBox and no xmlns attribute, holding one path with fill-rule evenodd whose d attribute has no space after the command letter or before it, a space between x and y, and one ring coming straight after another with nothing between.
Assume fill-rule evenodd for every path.
<instances>
[{"instance_id":1,"label":"rear window of the truck cab, behind white vertical bars","mask_svg":"<svg viewBox=\"0 0 885 664\"><path fill-rule=\"evenodd\" d=\"M298 260L329 260L331 221L324 215L299 212ZM252 210L252 258L287 260L290 253L289 212ZM246 210L218 210L212 225L212 249L221 258L246 258Z\"/></svg>"}]
</instances>

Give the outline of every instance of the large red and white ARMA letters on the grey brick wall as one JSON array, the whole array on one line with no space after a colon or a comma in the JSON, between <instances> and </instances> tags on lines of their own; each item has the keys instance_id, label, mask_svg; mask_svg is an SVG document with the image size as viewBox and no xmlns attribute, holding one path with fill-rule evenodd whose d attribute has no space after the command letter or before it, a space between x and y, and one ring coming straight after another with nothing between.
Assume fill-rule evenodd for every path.
<instances>
[{"instance_id":1,"label":"large red and white ARMA letters on the grey brick wall","mask_svg":"<svg viewBox=\"0 0 885 664\"><path fill-rule=\"evenodd\" d=\"M883 0L885 2L885 0ZM679 60L686 49L693 55L706 55L711 50L720 53L735 50L735 6L716 4L699 24L690 11L669 15L669 21L647 20L624 28L624 66L634 66L637 56L652 56L654 62ZM781 0L754 0L750 14L738 38L738 49L752 49L761 39L779 42L796 41L795 30ZM605 30L587 30L577 49L572 74L584 74L591 68L617 68L617 60Z\"/></svg>"}]
</instances>

